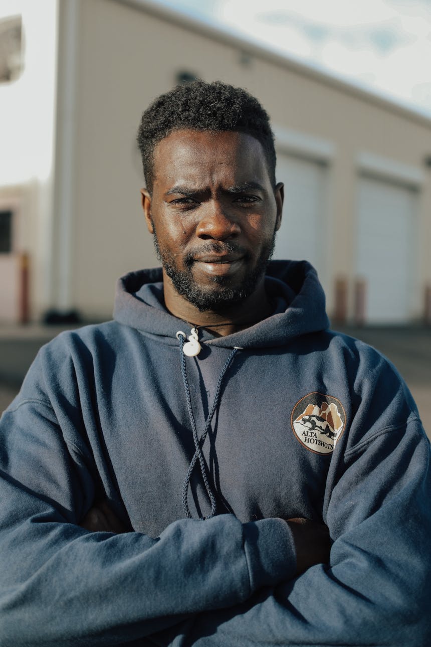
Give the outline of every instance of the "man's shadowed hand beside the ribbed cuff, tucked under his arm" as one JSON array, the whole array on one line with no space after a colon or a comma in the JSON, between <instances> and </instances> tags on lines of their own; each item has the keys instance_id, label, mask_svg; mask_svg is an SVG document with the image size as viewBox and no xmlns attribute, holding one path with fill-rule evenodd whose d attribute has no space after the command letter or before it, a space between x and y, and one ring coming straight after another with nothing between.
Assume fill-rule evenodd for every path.
<instances>
[{"instance_id":1,"label":"man's shadowed hand beside the ribbed cuff, tucked under his arm","mask_svg":"<svg viewBox=\"0 0 431 647\"><path fill-rule=\"evenodd\" d=\"M329 529L324 523L302 519L288 519L297 551L296 575L315 564L328 564L331 550Z\"/></svg>"}]
</instances>

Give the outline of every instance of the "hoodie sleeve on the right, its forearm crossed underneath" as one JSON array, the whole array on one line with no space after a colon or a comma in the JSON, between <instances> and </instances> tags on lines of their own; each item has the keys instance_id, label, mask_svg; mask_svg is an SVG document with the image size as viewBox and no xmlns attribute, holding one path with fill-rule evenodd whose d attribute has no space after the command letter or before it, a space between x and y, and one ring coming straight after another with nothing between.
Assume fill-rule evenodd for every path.
<instances>
[{"instance_id":1,"label":"hoodie sleeve on the right, its forearm crossed underneath","mask_svg":"<svg viewBox=\"0 0 431 647\"><path fill-rule=\"evenodd\" d=\"M326 523L330 564L204 613L175 647L431 644L430 446L419 419L374 431L345 456Z\"/></svg>"}]
</instances>

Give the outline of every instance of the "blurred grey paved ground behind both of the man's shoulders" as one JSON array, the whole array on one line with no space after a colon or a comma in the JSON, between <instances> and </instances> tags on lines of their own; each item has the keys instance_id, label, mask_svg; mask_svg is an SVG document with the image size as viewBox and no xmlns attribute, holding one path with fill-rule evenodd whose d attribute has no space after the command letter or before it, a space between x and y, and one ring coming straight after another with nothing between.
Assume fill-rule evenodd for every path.
<instances>
[{"instance_id":1,"label":"blurred grey paved ground behind both of the man's shoulders","mask_svg":"<svg viewBox=\"0 0 431 647\"><path fill-rule=\"evenodd\" d=\"M431 329L425 327L338 327L386 355L405 378L431 438ZM0 328L0 412L15 397L37 350L61 331L57 327Z\"/></svg>"}]
</instances>

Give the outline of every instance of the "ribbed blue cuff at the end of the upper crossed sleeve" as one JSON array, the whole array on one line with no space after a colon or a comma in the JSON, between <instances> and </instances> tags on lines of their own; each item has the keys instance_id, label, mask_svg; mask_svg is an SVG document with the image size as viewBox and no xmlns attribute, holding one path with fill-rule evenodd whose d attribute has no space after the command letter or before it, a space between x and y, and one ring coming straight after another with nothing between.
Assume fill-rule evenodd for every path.
<instances>
[{"instance_id":1,"label":"ribbed blue cuff at the end of the upper crossed sleeve","mask_svg":"<svg viewBox=\"0 0 431 647\"><path fill-rule=\"evenodd\" d=\"M251 521L244 523L243 529L252 593L295 576L295 542L286 521L278 518Z\"/></svg>"}]
</instances>

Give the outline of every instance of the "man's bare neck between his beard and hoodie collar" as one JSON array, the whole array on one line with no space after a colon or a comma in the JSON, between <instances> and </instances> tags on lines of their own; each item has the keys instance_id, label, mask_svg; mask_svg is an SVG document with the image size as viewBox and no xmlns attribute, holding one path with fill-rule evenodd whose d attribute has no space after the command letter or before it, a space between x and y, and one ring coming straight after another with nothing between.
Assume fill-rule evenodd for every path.
<instances>
[{"instance_id":1,"label":"man's bare neck between his beard and hoodie collar","mask_svg":"<svg viewBox=\"0 0 431 647\"><path fill-rule=\"evenodd\" d=\"M173 291L173 285L169 285L168 281L170 283L169 278L164 277L163 291L167 310L178 319L182 319L190 325L211 330L219 336L244 330L272 314L271 303L266 294L263 279L255 292L241 303L233 303L222 310L204 312L198 310L184 296Z\"/></svg>"}]
</instances>

